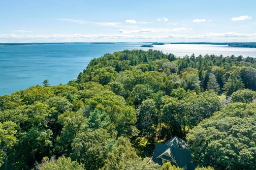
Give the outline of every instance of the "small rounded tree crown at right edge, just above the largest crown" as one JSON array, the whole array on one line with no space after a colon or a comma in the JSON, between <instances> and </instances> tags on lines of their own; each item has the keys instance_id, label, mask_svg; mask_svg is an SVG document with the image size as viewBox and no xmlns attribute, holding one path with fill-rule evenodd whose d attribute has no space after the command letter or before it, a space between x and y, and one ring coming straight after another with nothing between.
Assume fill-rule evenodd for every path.
<instances>
[{"instance_id":1,"label":"small rounded tree crown at right edge, just above the largest crown","mask_svg":"<svg viewBox=\"0 0 256 170\"><path fill-rule=\"evenodd\" d=\"M250 103L256 99L256 91L250 89L237 90L231 97L232 102Z\"/></svg>"}]
</instances>

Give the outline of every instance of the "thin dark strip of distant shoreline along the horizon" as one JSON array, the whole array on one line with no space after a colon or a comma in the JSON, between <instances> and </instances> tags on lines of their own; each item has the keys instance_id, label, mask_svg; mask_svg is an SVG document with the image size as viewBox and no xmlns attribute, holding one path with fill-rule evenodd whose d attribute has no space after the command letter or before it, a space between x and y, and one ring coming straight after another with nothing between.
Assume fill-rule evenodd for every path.
<instances>
[{"instance_id":1,"label":"thin dark strip of distant shoreline along the horizon","mask_svg":"<svg viewBox=\"0 0 256 170\"><path fill-rule=\"evenodd\" d=\"M53 42L53 43L0 43L0 46L13 46L13 45L44 45L44 44L118 44L127 42ZM128 42L131 43L132 42ZM134 42L136 43L136 42ZM256 48L256 42L139 42L140 44L198 44L198 45L227 45L228 47L242 47L242 48Z\"/></svg>"}]
</instances>

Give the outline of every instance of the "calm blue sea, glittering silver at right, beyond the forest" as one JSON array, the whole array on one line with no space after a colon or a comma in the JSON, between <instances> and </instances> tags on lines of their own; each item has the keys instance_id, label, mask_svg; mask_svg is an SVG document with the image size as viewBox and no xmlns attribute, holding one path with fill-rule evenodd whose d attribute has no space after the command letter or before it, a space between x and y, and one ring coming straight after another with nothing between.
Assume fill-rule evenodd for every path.
<instances>
[{"instance_id":1,"label":"calm blue sea, glittering silver at right, beyond the forest","mask_svg":"<svg viewBox=\"0 0 256 170\"><path fill-rule=\"evenodd\" d=\"M0 95L11 94L32 85L66 84L86 68L91 59L115 51L143 49L138 43L90 44L66 43L28 46L0 46ZM223 45L166 44L154 45L156 50L185 55L242 55L256 57L256 48L233 48Z\"/></svg>"}]
</instances>

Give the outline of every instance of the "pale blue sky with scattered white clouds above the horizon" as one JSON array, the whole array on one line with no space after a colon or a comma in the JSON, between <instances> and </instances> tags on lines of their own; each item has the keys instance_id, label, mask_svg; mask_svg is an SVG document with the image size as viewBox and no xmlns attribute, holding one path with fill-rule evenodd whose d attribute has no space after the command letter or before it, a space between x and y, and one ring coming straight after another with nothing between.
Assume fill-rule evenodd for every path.
<instances>
[{"instance_id":1,"label":"pale blue sky with scattered white clouds above the horizon","mask_svg":"<svg viewBox=\"0 0 256 170\"><path fill-rule=\"evenodd\" d=\"M18 42L256 42L256 0L0 0Z\"/></svg>"}]
</instances>

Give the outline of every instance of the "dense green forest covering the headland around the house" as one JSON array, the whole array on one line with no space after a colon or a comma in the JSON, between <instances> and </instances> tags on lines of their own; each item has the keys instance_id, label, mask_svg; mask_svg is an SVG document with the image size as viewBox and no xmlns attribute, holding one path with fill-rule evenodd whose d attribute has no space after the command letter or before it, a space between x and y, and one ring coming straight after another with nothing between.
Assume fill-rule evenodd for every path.
<instances>
[{"instance_id":1,"label":"dense green forest covering the headland around the house","mask_svg":"<svg viewBox=\"0 0 256 170\"><path fill-rule=\"evenodd\" d=\"M175 135L196 170L256 169L256 58L125 50L50 83L0 96L0 169L182 170L148 164Z\"/></svg>"}]
</instances>

